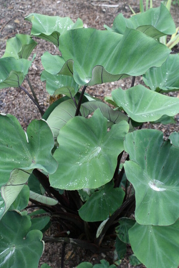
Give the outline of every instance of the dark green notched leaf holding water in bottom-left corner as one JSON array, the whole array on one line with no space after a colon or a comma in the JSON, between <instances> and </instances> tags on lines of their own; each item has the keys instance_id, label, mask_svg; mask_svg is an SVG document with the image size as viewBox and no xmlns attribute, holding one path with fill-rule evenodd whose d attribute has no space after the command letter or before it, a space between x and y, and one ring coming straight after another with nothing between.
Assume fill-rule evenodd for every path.
<instances>
[{"instance_id":1,"label":"dark green notched leaf holding water in bottom-left corner","mask_svg":"<svg viewBox=\"0 0 179 268\"><path fill-rule=\"evenodd\" d=\"M21 216L8 211L0 222L0 267L37 268L44 250L42 233L39 230L29 232L30 216Z\"/></svg>"}]
</instances>

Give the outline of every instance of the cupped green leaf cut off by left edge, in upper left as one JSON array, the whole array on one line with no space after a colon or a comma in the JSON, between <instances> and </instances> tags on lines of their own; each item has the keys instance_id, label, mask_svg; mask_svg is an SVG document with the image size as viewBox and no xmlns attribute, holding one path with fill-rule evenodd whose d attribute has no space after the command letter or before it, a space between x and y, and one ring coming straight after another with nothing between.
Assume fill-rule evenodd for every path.
<instances>
[{"instance_id":1,"label":"cupped green leaf cut off by left edge, in upper left","mask_svg":"<svg viewBox=\"0 0 179 268\"><path fill-rule=\"evenodd\" d=\"M31 61L26 59L16 60L13 57L1 58L0 88L19 87L24 81L26 74L28 74L29 67L34 57Z\"/></svg>"}]
</instances>

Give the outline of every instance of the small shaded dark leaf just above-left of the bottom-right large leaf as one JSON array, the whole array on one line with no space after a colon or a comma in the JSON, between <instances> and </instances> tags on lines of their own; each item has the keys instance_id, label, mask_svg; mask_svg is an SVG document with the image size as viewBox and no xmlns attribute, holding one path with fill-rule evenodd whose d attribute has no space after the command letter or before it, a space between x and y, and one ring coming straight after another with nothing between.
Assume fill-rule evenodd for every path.
<instances>
[{"instance_id":1,"label":"small shaded dark leaf just above-left of the bottom-right large leaf","mask_svg":"<svg viewBox=\"0 0 179 268\"><path fill-rule=\"evenodd\" d=\"M135 220L129 218L119 219L119 225L115 228L118 238L124 243L130 244L128 230L135 224Z\"/></svg>"}]
</instances>

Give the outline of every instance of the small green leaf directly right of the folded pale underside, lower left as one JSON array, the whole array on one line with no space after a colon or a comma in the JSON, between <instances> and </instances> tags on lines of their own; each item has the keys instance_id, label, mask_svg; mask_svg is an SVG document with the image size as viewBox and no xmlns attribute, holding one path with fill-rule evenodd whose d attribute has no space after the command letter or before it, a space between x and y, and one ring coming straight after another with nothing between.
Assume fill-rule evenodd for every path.
<instances>
[{"instance_id":1,"label":"small green leaf directly right of the folded pale underside, lower left","mask_svg":"<svg viewBox=\"0 0 179 268\"><path fill-rule=\"evenodd\" d=\"M20 211L26 208L29 202L29 194L30 194L29 186L24 185L22 190L20 191L20 193L10 206L10 210L16 209Z\"/></svg>"}]
</instances>

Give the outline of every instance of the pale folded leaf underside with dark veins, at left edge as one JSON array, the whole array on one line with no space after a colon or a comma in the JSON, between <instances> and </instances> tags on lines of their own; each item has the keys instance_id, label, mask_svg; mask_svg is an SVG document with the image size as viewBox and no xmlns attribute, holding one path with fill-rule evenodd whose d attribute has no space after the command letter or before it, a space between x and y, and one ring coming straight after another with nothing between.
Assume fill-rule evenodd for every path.
<instances>
[{"instance_id":1,"label":"pale folded leaf underside with dark veins, at left edge","mask_svg":"<svg viewBox=\"0 0 179 268\"><path fill-rule=\"evenodd\" d=\"M0 205L0 219L6 213L6 211L10 208L11 204L18 197L18 194L21 192L22 188L24 187L24 184L27 182L31 172L32 170L25 171L21 169L14 169L10 173L10 179L4 186L1 187L1 197L3 199L3 202L1 202L1 205ZM3 175L1 174L1 176ZM0 179L0 186L1 185L2 183ZM28 197L29 197L29 194L28 194ZM17 203L14 204L14 206L16 205ZM19 209L19 207L17 206L14 208Z\"/></svg>"}]
</instances>

